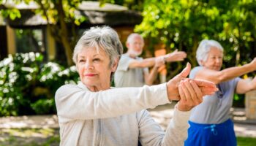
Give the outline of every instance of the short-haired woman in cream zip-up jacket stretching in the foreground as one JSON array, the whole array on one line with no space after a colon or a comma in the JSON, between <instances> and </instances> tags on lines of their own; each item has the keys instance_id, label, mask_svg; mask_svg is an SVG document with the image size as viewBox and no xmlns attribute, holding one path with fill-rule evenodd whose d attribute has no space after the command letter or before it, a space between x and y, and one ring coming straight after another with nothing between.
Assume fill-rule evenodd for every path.
<instances>
[{"instance_id":1,"label":"short-haired woman in cream zip-up jacket stretching in the foreground","mask_svg":"<svg viewBox=\"0 0 256 146\"><path fill-rule=\"evenodd\" d=\"M122 52L118 34L108 26L91 28L80 38L73 60L81 82L56 91L60 145L184 144L189 110L217 90L214 83L185 79L190 71L187 65L162 85L110 88ZM180 101L164 132L144 109L172 100Z\"/></svg>"}]
</instances>

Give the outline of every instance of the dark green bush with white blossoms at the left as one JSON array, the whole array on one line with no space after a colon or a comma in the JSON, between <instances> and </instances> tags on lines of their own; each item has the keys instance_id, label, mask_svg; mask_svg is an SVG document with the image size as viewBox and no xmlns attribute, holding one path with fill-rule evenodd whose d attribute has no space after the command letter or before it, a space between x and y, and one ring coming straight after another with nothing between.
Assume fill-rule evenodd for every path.
<instances>
[{"instance_id":1,"label":"dark green bush with white blossoms at the left","mask_svg":"<svg viewBox=\"0 0 256 146\"><path fill-rule=\"evenodd\" d=\"M75 66L43 63L39 53L16 53L0 61L0 116L56 112L54 94L79 80Z\"/></svg>"}]
</instances>

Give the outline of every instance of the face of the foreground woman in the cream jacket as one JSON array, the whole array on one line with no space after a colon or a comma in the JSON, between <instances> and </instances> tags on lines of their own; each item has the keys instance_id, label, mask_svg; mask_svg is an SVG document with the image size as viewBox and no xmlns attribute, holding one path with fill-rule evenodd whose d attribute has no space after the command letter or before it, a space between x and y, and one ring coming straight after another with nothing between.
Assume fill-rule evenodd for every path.
<instances>
[{"instance_id":1,"label":"face of the foreground woman in the cream jacket","mask_svg":"<svg viewBox=\"0 0 256 146\"><path fill-rule=\"evenodd\" d=\"M103 51L94 47L83 49L78 53L76 64L80 80L90 91L110 88L110 74L116 71L116 64L110 66L110 58Z\"/></svg>"}]
</instances>

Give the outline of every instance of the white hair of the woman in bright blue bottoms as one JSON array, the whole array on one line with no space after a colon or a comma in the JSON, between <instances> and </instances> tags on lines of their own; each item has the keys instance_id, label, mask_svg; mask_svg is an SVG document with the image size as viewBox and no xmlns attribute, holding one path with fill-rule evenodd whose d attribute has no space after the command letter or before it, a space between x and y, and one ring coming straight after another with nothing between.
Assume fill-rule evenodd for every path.
<instances>
[{"instance_id":1,"label":"white hair of the woman in bright blue bottoms","mask_svg":"<svg viewBox=\"0 0 256 146\"><path fill-rule=\"evenodd\" d=\"M223 52L222 45L219 44L219 42L213 40L213 39L203 39L199 46L197 47L197 63L202 66L201 61L206 61L208 58L208 53L211 50L211 47L217 47L217 49L221 50Z\"/></svg>"}]
</instances>

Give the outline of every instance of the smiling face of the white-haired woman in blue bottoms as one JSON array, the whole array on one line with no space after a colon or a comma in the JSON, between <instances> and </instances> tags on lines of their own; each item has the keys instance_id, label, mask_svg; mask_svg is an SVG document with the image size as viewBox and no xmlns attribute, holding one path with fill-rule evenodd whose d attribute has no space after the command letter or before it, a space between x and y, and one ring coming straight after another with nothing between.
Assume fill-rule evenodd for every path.
<instances>
[{"instance_id":1,"label":"smiling face of the white-haired woman in blue bottoms","mask_svg":"<svg viewBox=\"0 0 256 146\"><path fill-rule=\"evenodd\" d=\"M219 71L222 68L223 52L217 47L211 47L208 53L208 58L206 61L202 61L202 65L208 69L213 69Z\"/></svg>"}]
</instances>

